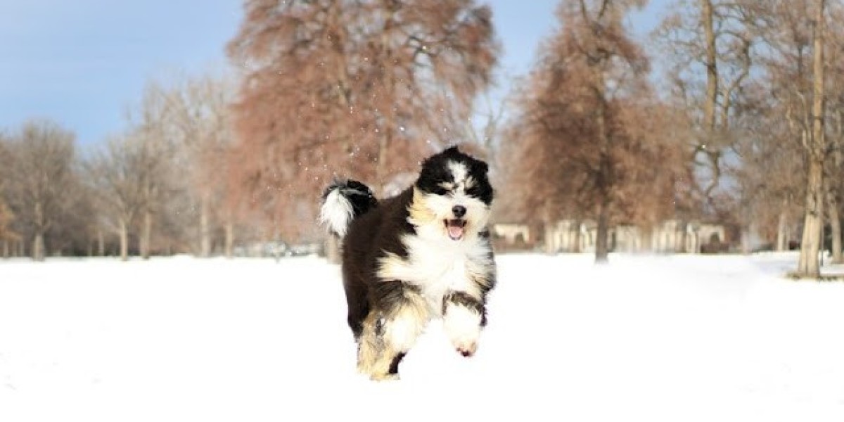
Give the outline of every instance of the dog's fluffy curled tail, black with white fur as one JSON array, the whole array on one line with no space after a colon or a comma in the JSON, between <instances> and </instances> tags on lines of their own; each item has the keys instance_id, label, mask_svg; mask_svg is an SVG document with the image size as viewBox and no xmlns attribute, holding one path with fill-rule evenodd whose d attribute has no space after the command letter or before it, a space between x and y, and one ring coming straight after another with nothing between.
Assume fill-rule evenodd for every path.
<instances>
[{"instance_id":1,"label":"dog's fluffy curled tail, black with white fur","mask_svg":"<svg viewBox=\"0 0 844 422\"><path fill-rule=\"evenodd\" d=\"M328 231L342 238L355 217L377 205L372 190L360 181L335 180L322 192L319 219Z\"/></svg>"}]
</instances>

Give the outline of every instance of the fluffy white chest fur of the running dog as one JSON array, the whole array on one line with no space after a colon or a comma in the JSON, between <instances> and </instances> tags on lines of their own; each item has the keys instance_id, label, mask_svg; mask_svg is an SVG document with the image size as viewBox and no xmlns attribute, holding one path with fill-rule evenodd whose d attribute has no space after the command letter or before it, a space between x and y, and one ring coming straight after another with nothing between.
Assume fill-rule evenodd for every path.
<instances>
[{"instance_id":1,"label":"fluffy white chest fur of the running dog","mask_svg":"<svg viewBox=\"0 0 844 422\"><path fill-rule=\"evenodd\" d=\"M490 246L477 235L463 241L405 235L408 257L381 258L381 279L401 280L419 287L433 315L440 316L442 298L449 291L461 291L479 298L476 280L489 279L493 271Z\"/></svg>"}]
</instances>

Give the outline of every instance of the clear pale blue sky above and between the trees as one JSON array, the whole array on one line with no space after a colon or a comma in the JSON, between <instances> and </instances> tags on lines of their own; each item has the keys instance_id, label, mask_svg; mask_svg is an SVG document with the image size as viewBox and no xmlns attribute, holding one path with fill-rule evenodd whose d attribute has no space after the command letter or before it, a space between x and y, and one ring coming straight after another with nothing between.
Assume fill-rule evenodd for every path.
<instances>
[{"instance_id":1,"label":"clear pale blue sky above and between the trees","mask_svg":"<svg viewBox=\"0 0 844 422\"><path fill-rule=\"evenodd\" d=\"M632 19L644 34L668 0ZM555 26L556 0L495 0L504 44L500 90L527 72ZM239 0L0 0L0 130L49 117L99 143L150 78L225 66Z\"/></svg>"}]
</instances>

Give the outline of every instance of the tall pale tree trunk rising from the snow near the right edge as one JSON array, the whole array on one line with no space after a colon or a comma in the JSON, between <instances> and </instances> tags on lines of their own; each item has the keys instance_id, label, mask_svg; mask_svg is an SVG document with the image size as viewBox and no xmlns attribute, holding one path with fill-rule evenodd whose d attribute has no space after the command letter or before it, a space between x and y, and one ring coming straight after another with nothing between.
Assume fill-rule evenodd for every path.
<instances>
[{"instance_id":1,"label":"tall pale tree trunk rising from the snow near the right edge","mask_svg":"<svg viewBox=\"0 0 844 422\"><path fill-rule=\"evenodd\" d=\"M812 54L812 137L809 149L809 177L806 184L806 209L803 218L803 241L800 245L798 277L820 278L819 251L823 234L824 201L824 11L825 0L818 0L815 14Z\"/></svg>"}]
</instances>

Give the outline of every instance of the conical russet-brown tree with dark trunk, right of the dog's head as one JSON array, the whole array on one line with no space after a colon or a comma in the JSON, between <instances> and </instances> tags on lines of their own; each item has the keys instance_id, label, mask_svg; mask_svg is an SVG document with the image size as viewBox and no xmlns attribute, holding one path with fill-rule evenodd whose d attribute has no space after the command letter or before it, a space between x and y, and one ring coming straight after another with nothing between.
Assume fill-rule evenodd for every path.
<instances>
[{"instance_id":1,"label":"conical russet-brown tree with dark trunk, right of the dog's head","mask_svg":"<svg viewBox=\"0 0 844 422\"><path fill-rule=\"evenodd\" d=\"M647 58L624 26L626 14L643 4L561 4L561 30L523 89L511 129L518 145L506 154L512 181L531 187L519 198L526 213L546 224L563 216L597 220L596 262L607 259L613 221L660 214L648 205L675 199L678 149L655 120L671 113L654 100ZM653 169L657 161L663 171ZM661 200L641 201L644 187Z\"/></svg>"}]
</instances>

